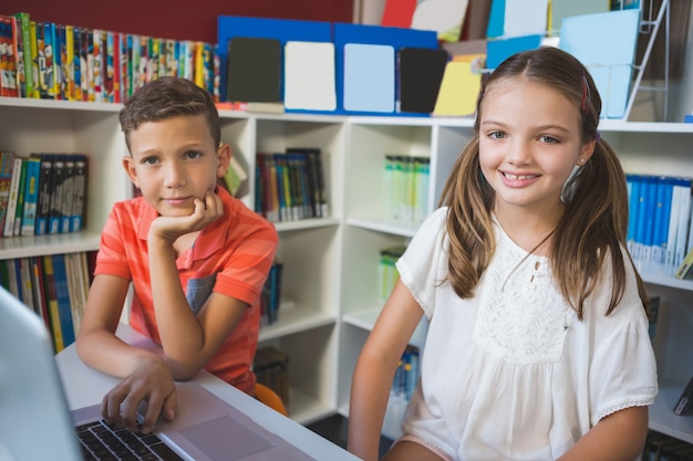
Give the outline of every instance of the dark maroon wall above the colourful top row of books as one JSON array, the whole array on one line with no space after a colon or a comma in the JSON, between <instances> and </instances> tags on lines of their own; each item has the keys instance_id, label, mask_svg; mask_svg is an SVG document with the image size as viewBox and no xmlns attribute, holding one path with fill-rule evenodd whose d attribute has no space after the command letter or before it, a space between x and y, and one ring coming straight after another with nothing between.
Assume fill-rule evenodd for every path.
<instances>
[{"instance_id":1,"label":"dark maroon wall above the colourful top row of books","mask_svg":"<svg viewBox=\"0 0 693 461\"><path fill-rule=\"evenodd\" d=\"M217 42L218 15L351 22L352 9L351 0L121 0L106 10L93 0L2 1L6 13L25 11L42 21L209 43Z\"/></svg>"}]
</instances>

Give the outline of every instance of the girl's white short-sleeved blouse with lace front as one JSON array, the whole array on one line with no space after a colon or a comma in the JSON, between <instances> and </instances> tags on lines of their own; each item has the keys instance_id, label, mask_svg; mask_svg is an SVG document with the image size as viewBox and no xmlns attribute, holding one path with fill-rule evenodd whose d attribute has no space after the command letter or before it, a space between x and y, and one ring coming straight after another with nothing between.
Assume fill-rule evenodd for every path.
<instances>
[{"instance_id":1,"label":"girl's white short-sleeved blouse with lace front","mask_svg":"<svg viewBox=\"0 0 693 461\"><path fill-rule=\"evenodd\" d=\"M496 224L495 255L475 296L461 300L439 283L446 211L428 217L397 262L430 319L405 433L455 460L554 460L604 416L653 402L654 354L628 260L621 303L604 315L606 271L578 321L548 260L526 258Z\"/></svg>"}]
</instances>

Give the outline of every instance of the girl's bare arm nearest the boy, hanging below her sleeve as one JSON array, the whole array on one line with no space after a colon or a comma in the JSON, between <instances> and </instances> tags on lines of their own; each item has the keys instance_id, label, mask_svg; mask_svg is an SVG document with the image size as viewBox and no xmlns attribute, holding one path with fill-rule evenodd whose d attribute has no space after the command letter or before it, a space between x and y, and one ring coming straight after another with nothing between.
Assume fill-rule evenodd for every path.
<instances>
[{"instance_id":1,"label":"girl's bare arm nearest the boy, hanging below her sleeve","mask_svg":"<svg viewBox=\"0 0 693 461\"><path fill-rule=\"evenodd\" d=\"M408 289L397 281L361 350L351 385L348 448L363 460L377 460L392 380L422 315Z\"/></svg>"}]
</instances>

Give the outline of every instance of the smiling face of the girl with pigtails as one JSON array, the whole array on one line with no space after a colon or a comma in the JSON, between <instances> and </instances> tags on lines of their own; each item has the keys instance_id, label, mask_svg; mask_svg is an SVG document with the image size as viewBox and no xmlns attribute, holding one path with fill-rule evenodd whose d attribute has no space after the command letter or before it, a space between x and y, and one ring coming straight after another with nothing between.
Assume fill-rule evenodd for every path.
<instances>
[{"instance_id":1,"label":"smiling face of the girl with pigtails","mask_svg":"<svg viewBox=\"0 0 693 461\"><path fill-rule=\"evenodd\" d=\"M497 213L560 208L563 184L594 149L594 142L581 143L578 107L519 76L486 91L479 122L479 163L496 191Z\"/></svg>"}]
</instances>

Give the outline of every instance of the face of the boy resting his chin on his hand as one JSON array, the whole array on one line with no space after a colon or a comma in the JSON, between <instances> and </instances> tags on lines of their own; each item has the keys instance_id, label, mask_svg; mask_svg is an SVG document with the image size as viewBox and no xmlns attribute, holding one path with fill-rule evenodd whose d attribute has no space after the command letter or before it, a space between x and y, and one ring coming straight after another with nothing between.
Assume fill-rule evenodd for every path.
<instances>
[{"instance_id":1,"label":"face of the boy resting his chin on his hand","mask_svg":"<svg viewBox=\"0 0 693 461\"><path fill-rule=\"evenodd\" d=\"M224 177L230 147L218 149L203 115L144 123L130 136L123 166L144 199L162 216L189 216Z\"/></svg>"}]
</instances>

